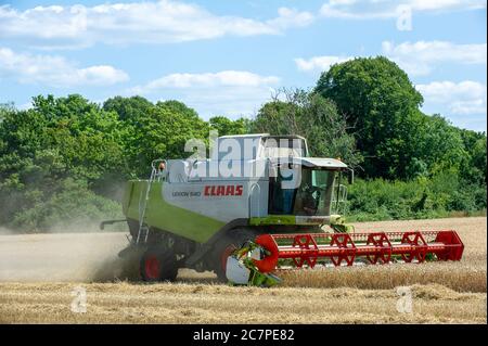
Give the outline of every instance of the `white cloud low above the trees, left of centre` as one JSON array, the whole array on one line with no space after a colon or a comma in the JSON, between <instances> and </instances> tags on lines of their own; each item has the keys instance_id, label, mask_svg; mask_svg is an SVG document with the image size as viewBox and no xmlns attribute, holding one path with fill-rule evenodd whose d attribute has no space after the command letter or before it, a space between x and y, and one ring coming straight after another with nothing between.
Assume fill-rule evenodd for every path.
<instances>
[{"instance_id":1,"label":"white cloud low above the trees, left of centre","mask_svg":"<svg viewBox=\"0 0 488 346\"><path fill-rule=\"evenodd\" d=\"M226 115L235 118L256 113L279 82L278 77L246 71L170 74L131 88L127 93L157 100L177 99L204 117Z\"/></svg>"}]
</instances>

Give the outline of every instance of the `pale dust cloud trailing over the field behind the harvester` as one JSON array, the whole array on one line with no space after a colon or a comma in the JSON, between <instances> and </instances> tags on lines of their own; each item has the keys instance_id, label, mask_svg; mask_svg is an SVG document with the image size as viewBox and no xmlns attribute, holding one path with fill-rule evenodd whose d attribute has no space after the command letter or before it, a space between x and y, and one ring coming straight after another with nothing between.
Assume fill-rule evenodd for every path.
<instances>
[{"instance_id":1,"label":"pale dust cloud trailing over the field behind the harvester","mask_svg":"<svg viewBox=\"0 0 488 346\"><path fill-rule=\"evenodd\" d=\"M0 282L92 282L133 277L118 252L127 232L12 234L0 230Z\"/></svg>"}]
</instances>

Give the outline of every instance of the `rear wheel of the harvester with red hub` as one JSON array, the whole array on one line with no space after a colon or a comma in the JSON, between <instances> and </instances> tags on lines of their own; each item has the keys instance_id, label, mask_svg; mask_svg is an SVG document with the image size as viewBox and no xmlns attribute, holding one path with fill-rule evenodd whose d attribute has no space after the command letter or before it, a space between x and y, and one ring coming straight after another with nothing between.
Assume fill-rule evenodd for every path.
<instances>
[{"instance_id":1,"label":"rear wheel of the harvester with red hub","mask_svg":"<svg viewBox=\"0 0 488 346\"><path fill-rule=\"evenodd\" d=\"M141 257L140 273L147 282L175 281L178 275L175 253L158 246L147 248Z\"/></svg>"}]
</instances>

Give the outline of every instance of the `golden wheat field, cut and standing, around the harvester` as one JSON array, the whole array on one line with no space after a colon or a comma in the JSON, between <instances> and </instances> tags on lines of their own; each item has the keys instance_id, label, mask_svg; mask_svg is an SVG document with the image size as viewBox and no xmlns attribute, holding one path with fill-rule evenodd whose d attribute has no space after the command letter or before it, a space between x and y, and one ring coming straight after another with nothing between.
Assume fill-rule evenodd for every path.
<instances>
[{"instance_id":1,"label":"golden wheat field, cut and standing, around the harvester","mask_svg":"<svg viewBox=\"0 0 488 346\"><path fill-rule=\"evenodd\" d=\"M125 245L117 234L4 235L0 323L486 323L486 221L358 223L358 231L454 229L464 256L280 272L283 284L272 289L222 285L213 273L190 270L176 283L127 280L113 266L113 253ZM398 309L398 286L410 290L409 311ZM73 309L80 290L85 311Z\"/></svg>"}]
</instances>

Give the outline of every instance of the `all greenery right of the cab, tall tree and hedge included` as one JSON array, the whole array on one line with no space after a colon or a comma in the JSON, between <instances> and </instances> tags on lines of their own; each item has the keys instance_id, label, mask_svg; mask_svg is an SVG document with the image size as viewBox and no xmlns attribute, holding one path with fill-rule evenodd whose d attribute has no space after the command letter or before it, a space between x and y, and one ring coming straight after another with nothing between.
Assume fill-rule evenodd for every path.
<instances>
[{"instance_id":1,"label":"all greenery right of the cab, tall tree and hedge included","mask_svg":"<svg viewBox=\"0 0 488 346\"><path fill-rule=\"evenodd\" d=\"M422 95L395 63L380 56L336 64L316 91L347 117L364 156L360 175L378 178L349 188L354 219L486 210L486 134L423 114Z\"/></svg>"}]
</instances>

